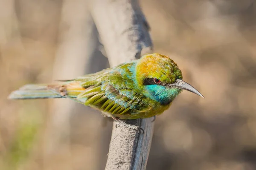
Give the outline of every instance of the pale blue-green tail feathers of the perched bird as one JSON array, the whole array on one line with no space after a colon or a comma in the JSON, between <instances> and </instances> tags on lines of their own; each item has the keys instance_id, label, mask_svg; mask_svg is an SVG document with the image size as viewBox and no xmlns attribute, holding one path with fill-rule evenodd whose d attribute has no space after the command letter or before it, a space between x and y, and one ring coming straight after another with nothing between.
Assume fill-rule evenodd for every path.
<instances>
[{"instance_id":1,"label":"pale blue-green tail feathers of the perched bird","mask_svg":"<svg viewBox=\"0 0 256 170\"><path fill-rule=\"evenodd\" d=\"M59 85L60 86L60 85ZM61 98L60 94L49 88L47 84L28 84L16 91L13 91L9 99L40 99L40 98Z\"/></svg>"}]
</instances>

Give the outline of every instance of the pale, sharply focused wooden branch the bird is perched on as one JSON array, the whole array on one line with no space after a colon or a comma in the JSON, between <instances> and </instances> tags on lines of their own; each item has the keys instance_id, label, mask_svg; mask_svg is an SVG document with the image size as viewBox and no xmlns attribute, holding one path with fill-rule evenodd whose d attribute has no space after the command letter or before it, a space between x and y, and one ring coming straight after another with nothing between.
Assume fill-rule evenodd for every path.
<instances>
[{"instance_id":1,"label":"pale, sharply focused wooden branch the bird is perched on","mask_svg":"<svg viewBox=\"0 0 256 170\"><path fill-rule=\"evenodd\" d=\"M90 12L111 66L152 51L148 23L137 0L91 0ZM126 121L144 133L113 123L105 170L145 169L154 127L151 120Z\"/></svg>"}]
</instances>

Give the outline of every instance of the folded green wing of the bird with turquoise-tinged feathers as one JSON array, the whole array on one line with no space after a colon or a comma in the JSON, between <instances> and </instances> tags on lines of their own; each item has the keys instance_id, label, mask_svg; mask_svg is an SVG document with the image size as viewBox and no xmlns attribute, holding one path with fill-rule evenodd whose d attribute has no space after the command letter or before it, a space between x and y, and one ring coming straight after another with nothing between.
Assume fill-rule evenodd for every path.
<instances>
[{"instance_id":1,"label":"folded green wing of the bird with turquoise-tinged feathers","mask_svg":"<svg viewBox=\"0 0 256 170\"><path fill-rule=\"evenodd\" d=\"M128 63L129 64L129 63ZM125 66L125 65L123 65ZM132 73L128 70L107 69L100 73L79 77L83 88L86 88L77 96L84 105L98 108L114 116L134 115L150 110L140 91L136 88ZM128 115L127 115L128 116Z\"/></svg>"}]
</instances>

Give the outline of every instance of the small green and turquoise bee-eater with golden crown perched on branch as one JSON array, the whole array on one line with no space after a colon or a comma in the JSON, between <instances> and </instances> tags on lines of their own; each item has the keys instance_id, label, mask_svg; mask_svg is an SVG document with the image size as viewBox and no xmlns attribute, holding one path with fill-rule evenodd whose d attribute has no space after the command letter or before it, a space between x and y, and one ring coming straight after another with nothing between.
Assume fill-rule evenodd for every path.
<instances>
[{"instance_id":1,"label":"small green and turquoise bee-eater with golden crown perched on branch","mask_svg":"<svg viewBox=\"0 0 256 170\"><path fill-rule=\"evenodd\" d=\"M67 98L99 110L103 116L127 120L162 114L183 90L204 98L183 81L182 72L173 59L153 53L75 79L27 84L8 98Z\"/></svg>"}]
</instances>

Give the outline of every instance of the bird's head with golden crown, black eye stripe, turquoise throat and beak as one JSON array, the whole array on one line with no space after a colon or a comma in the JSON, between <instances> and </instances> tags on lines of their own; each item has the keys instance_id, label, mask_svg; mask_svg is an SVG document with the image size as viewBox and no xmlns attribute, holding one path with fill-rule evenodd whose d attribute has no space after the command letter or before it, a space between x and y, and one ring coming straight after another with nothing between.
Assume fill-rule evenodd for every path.
<instances>
[{"instance_id":1,"label":"bird's head with golden crown, black eye stripe, turquoise throat and beak","mask_svg":"<svg viewBox=\"0 0 256 170\"><path fill-rule=\"evenodd\" d=\"M182 90L204 97L184 82L177 64L158 53L143 56L136 65L136 81L142 93L162 105L168 105Z\"/></svg>"}]
</instances>

